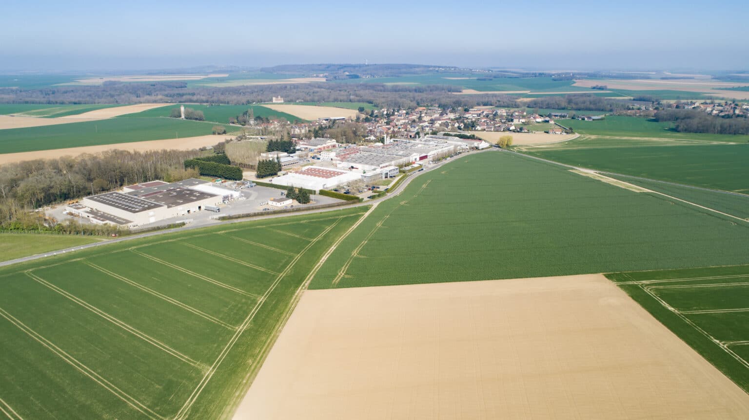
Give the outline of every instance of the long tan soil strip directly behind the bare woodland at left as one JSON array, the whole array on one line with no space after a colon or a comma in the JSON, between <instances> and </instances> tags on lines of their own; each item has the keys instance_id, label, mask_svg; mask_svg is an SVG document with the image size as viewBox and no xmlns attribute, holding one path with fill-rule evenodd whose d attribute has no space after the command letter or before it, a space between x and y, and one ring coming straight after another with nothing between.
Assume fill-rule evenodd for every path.
<instances>
[{"instance_id":1,"label":"long tan soil strip directly behind the bare woodland at left","mask_svg":"<svg viewBox=\"0 0 749 420\"><path fill-rule=\"evenodd\" d=\"M213 146L219 141L232 138L231 135L202 135L197 137L170 138L167 140L134 141L133 143L102 144L100 146L70 147L67 149L39 150L36 152L4 153L0 154L0 164L8 164L19 161L31 161L34 159L52 159L61 156L77 156L83 153L98 153L106 150L120 149L133 152L145 152L146 150L174 149L189 150L199 149L203 146Z\"/></svg>"}]
</instances>

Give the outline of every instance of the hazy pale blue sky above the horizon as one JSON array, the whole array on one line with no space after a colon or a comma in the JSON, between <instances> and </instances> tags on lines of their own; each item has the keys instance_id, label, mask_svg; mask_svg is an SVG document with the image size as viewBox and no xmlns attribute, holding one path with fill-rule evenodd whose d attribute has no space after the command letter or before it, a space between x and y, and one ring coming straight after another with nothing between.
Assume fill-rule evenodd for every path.
<instances>
[{"instance_id":1,"label":"hazy pale blue sky above the horizon","mask_svg":"<svg viewBox=\"0 0 749 420\"><path fill-rule=\"evenodd\" d=\"M743 1L3 1L0 70L743 70Z\"/></svg>"}]
</instances>

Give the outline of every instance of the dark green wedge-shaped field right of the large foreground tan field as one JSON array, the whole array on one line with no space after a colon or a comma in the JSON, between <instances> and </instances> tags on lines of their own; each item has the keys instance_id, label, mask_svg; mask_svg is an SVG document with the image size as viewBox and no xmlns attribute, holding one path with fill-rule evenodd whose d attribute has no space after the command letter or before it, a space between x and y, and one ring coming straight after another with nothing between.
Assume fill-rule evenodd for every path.
<instances>
[{"instance_id":1,"label":"dark green wedge-shaped field right of the large foreground tan field","mask_svg":"<svg viewBox=\"0 0 749 420\"><path fill-rule=\"evenodd\" d=\"M749 265L606 277L749 392Z\"/></svg>"}]
</instances>

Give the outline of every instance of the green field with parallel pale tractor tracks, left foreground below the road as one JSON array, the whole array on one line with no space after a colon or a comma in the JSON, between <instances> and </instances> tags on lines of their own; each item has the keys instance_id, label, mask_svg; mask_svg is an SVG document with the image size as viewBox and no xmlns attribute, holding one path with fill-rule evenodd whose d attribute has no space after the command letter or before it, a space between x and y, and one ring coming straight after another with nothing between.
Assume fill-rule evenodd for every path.
<instances>
[{"instance_id":1,"label":"green field with parallel pale tractor tracks, left foreground below the road","mask_svg":"<svg viewBox=\"0 0 749 420\"><path fill-rule=\"evenodd\" d=\"M22 419L218 419L324 251L366 211L139 238L0 268L0 405Z\"/></svg>"}]
</instances>

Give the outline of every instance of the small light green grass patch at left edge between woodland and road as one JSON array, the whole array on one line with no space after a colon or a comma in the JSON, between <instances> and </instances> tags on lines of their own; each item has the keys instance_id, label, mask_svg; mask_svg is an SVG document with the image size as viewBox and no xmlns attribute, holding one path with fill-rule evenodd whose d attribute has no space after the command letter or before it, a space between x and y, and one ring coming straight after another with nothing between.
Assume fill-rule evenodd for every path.
<instances>
[{"instance_id":1,"label":"small light green grass patch at left edge between woodland and road","mask_svg":"<svg viewBox=\"0 0 749 420\"><path fill-rule=\"evenodd\" d=\"M101 238L91 236L0 233L0 261L77 247L101 240Z\"/></svg>"}]
</instances>

